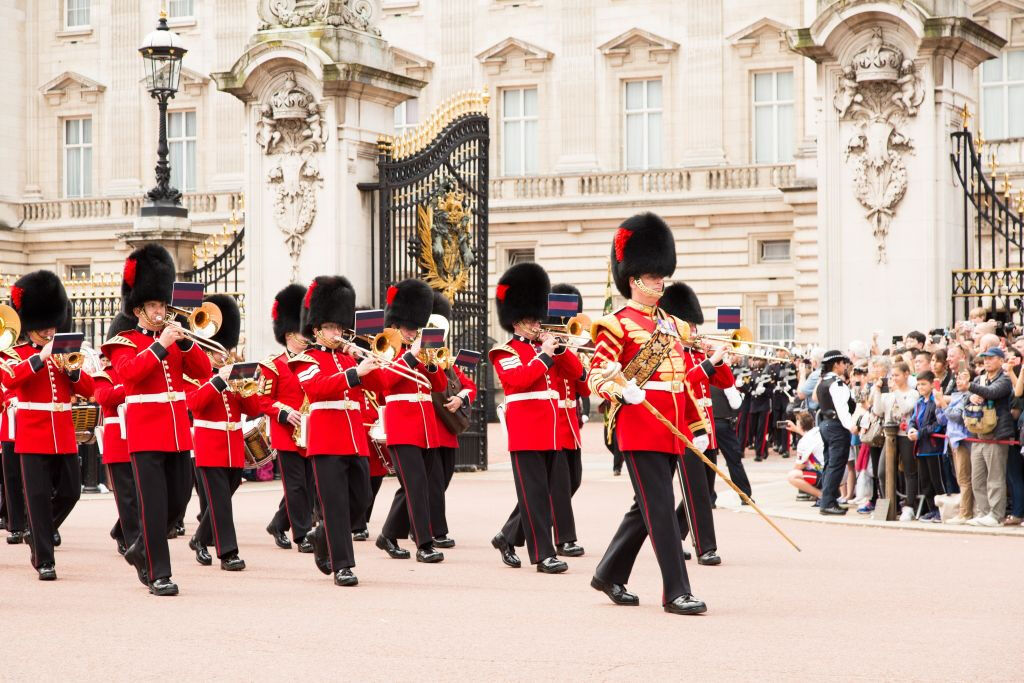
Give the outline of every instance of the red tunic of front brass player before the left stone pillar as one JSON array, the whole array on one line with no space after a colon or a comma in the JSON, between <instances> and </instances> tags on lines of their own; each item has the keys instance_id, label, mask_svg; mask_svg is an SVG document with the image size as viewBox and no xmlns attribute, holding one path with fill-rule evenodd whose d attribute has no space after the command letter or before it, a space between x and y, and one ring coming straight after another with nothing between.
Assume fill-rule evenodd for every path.
<instances>
[{"instance_id":1,"label":"red tunic of front brass player before the left stone pillar","mask_svg":"<svg viewBox=\"0 0 1024 683\"><path fill-rule=\"evenodd\" d=\"M362 388L380 388L377 372L360 378L352 356L318 345L293 356L288 364L309 397L308 455L369 456Z\"/></svg>"}]
</instances>

